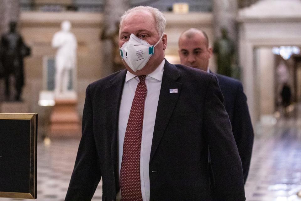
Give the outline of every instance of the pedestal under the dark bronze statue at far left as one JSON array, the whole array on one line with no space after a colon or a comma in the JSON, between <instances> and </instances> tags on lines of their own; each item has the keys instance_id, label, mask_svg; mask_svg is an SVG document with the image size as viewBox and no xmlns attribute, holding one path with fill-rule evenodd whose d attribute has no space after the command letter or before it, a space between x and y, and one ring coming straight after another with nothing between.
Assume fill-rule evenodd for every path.
<instances>
[{"instance_id":1,"label":"pedestal under the dark bronze statue at far left","mask_svg":"<svg viewBox=\"0 0 301 201\"><path fill-rule=\"evenodd\" d=\"M0 102L1 113L29 113L29 104L25 101L22 102Z\"/></svg>"}]
</instances>

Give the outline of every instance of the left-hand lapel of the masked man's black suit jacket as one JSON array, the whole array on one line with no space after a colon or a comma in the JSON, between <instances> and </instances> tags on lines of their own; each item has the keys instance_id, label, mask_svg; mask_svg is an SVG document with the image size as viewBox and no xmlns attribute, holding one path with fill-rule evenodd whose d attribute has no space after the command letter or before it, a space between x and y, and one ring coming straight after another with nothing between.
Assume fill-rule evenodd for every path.
<instances>
[{"instance_id":1,"label":"left-hand lapel of the masked man's black suit jacket","mask_svg":"<svg viewBox=\"0 0 301 201\"><path fill-rule=\"evenodd\" d=\"M106 131L111 137L111 157L114 170L118 169L118 119L122 90L127 70L121 71L112 80L111 85L105 89L106 99ZM117 171L116 171L117 172Z\"/></svg>"}]
</instances>

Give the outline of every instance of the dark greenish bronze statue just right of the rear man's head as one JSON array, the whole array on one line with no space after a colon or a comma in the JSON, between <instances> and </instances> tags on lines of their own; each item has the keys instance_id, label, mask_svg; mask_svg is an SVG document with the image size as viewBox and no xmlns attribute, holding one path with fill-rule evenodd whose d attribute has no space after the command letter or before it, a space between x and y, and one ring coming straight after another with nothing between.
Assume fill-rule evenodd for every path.
<instances>
[{"instance_id":1,"label":"dark greenish bronze statue just right of the rear man's head","mask_svg":"<svg viewBox=\"0 0 301 201\"><path fill-rule=\"evenodd\" d=\"M214 43L213 53L217 59L217 73L231 77L232 75L232 57L235 52L234 44L228 38L228 32L225 28L221 29L222 37Z\"/></svg>"}]
</instances>

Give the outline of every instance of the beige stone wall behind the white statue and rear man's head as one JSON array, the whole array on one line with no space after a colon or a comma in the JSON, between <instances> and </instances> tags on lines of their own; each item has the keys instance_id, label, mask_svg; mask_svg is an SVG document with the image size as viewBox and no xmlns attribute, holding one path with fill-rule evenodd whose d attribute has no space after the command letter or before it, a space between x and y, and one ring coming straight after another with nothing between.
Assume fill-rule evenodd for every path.
<instances>
[{"instance_id":1,"label":"beige stone wall behind the white statue and rear man's head","mask_svg":"<svg viewBox=\"0 0 301 201\"><path fill-rule=\"evenodd\" d=\"M166 33L168 46L166 57L172 63L178 63L177 40L179 34L191 27L203 28L213 42L211 14L191 13L185 15L165 14L167 20ZM85 90L89 83L103 77L107 72L105 62L102 61L102 49L99 35L102 30L102 14L81 12L22 12L20 16L20 32L24 41L32 48L32 55L25 59L25 87L23 99L29 102L29 112L38 113L40 132L51 108L38 105L39 92L43 89L43 58L54 56L55 49L51 48L51 39L60 30L62 20L70 20L72 33L78 41L77 51L77 93L78 113L82 115L85 100ZM214 69L214 62L212 60ZM46 120L46 121L45 121Z\"/></svg>"}]
</instances>

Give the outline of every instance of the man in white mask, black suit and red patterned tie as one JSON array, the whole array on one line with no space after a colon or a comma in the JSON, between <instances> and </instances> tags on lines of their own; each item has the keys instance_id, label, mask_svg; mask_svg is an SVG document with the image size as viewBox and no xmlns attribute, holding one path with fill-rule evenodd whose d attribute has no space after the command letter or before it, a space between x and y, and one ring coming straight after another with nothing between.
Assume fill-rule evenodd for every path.
<instances>
[{"instance_id":1,"label":"man in white mask, black suit and red patterned tie","mask_svg":"<svg viewBox=\"0 0 301 201\"><path fill-rule=\"evenodd\" d=\"M152 7L131 8L121 17L126 69L87 87L66 201L91 200L101 178L103 200L245 200L217 79L164 59L165 24Z\"/></svg>"}]
</instances>

